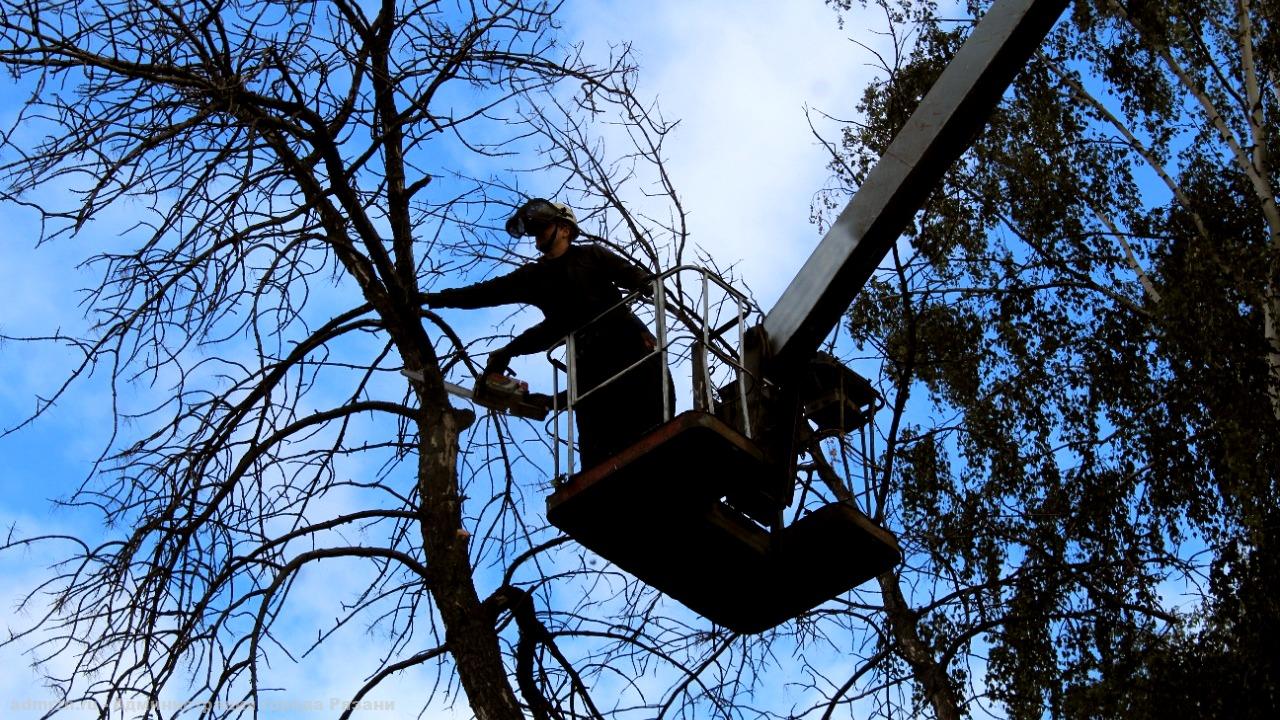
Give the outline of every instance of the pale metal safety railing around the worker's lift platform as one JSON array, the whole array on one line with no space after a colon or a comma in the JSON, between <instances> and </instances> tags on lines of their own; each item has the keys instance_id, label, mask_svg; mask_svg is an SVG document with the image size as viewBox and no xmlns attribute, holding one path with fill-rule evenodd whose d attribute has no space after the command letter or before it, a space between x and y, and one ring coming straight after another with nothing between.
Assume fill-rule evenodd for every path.
<instances>
[{"instance_id":1,"label":"pale metal safety railing around the worker's lift platform","mask_svg":"<svg viewBox=\"0 0 1280 720\"><path fill-rule=\"evenodd\" d=\"M692 282L687 282L692 277ZM675 286L672 292L667 284ZM622 370L599 382L594 387L581 388L577 368L577 345L584 333L593 325L608 318L611 313L630 311L632 306L648 305L649 310L636 313L641 320L652 313L657 342L653 350L639 357ZM561 478L561 454L567 461L566 475L575 473L573 455L576 450L576 424L573 409L582 400L602 388L618 382L627 373L635 372L643 364L660 357L663 421L671 420L682 405L680 400L689 397L689 409L704 413L728 414L735 418L722 418L736 421L736 428L746 437L753 437L748 414L746 388L750 373L745 366L744 341L748 320L759 315L759 309L745 295L731 287L723 278L696 265L680 265L655 275L649 287L637 290L621 302L600 313L596 318L573 331L562 342L547 351L547 357L554 368L554 401L548 432L552 436L556 455L556 478ZM673 322L672 322L673 320ZM648 324L648 323L646 323ZM731 331L736 342L726 340ZM563 360L558 354L563 352ZM672 365L677 370L687 368L689 386L676 387L676 406L672 405L668 387L675 386ZM561 406L561 373L567 378L563 407ZM681 391L686 392L681 392ZM732 402L727 397L717 398L717 393L733 393ZM564 432L561 432L561 423Z\"/></svg>"}]
</instances>

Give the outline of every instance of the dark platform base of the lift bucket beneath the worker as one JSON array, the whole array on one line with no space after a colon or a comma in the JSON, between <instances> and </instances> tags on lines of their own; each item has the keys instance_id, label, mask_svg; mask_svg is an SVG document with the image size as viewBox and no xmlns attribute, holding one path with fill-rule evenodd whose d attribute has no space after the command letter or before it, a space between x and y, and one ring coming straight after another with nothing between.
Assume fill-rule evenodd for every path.
<instances>
[{"instance_id":1,"label":"dark platform base of the lift bucket beneath the worker","mask_svg":"<svg viewBox=\"0 0 1280 720\"><path fill-rule=\"evenodd\" d=\"M699 615L759 633L901 559L893 536L851 503L771 530L724 501L768 492L776 471L751 441L691 410L562 483L547 519Z\"/></svg>"}]
</instances>

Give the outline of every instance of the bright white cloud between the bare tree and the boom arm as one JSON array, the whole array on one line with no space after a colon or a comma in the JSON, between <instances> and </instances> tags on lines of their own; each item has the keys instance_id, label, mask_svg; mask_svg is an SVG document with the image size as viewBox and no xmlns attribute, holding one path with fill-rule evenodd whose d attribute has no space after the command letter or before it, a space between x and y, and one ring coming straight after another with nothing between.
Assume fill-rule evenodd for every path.
<instances>
[{"instance_id":1,"label":"bright white cloud between the bare tree and the boom arm","mask_svg":"<svg viewBox=\"0 0 1280 720\"><path fill-rule=\"evenodd\" d=\"M566 32L588 51L632 44L640 95L680 120L669 169L694 242L721 265L737 263L767 310L819 240L809 205L827 156L805 106L849 117L872 76L869 53L817 0L588 0L570 10Z\"/></svg>"}]
</instances>

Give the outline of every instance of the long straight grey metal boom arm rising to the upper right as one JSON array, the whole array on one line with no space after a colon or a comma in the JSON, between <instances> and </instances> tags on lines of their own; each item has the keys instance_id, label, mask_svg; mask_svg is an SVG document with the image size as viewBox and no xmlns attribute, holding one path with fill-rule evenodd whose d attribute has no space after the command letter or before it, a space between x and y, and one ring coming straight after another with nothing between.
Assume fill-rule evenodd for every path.
<instances>
[{"instance_id":1,"label":"long straight grey metal boom arm rising to the upper right","mask_svg":"<svg viewBox=\"0 0 1280 720\"><path fill-rule=\"evenodd\" d=\"M1068 3L992 4L765 315L769 375L813 356Z\"/></svg>"}]
</instances>

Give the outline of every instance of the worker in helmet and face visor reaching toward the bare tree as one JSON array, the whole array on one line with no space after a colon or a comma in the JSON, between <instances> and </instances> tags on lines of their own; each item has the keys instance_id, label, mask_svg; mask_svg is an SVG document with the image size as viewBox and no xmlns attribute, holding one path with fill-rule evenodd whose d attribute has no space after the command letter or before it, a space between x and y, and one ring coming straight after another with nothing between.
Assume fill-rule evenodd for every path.
<instances>
[{"instance_id":1,"label":"worker in helmet and face visor reaching toward the bare tree","mask_svg":"<svg viewBox=\"0 0 1280 720\"><path fill-rule=\"evenodd\" d=\"M614 307L623 290L646 288L650 274L599 245L575 243L581 233L577 218L562 202L525 202L507 220L507 232L534 237L541 258L498 278L428 292L424 302L463 309L520 304L543 311L543 322L489 355L486 377L506 373L517 355L544 352L576 333L577 395L594 391L573 407L577 446L582 466L591 468L663 421L660 355L598 387L655 347L649 328L635 314ZM669 382L667 395L673 395Z\"/></svg>"}]
</instances>

